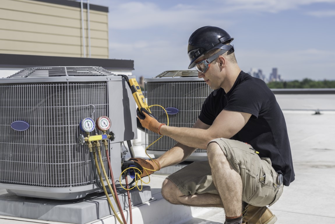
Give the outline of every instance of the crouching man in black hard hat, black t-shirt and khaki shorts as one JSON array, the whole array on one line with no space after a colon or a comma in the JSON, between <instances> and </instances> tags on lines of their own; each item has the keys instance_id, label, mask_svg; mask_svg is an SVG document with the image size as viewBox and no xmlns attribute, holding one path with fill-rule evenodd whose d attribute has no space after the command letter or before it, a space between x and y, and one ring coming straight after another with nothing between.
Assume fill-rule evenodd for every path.
<instances>
[{"instance_id":1,"label":"crouching man in black hard hat, black t-shirt and khaki shorts","mask_svg":"<svg viewBox=\"0 0 335 224\"><path fill-rule=\"evenodd\" d=\"M163 197L188 206L223 207L226 224L272 224L266 207L294 180L287 128L274 94L261 79L241 71L233 40L224 30L205 26L189 39L189 68L214 91L205 100L192 128L159 123L145 109L143 127L175 139L155 160L133 158L142 176L184 161L196 148L208 161L194 162L165 179ZM243 208L242 208L243 207Z\"/></svg>"}]
</instances>

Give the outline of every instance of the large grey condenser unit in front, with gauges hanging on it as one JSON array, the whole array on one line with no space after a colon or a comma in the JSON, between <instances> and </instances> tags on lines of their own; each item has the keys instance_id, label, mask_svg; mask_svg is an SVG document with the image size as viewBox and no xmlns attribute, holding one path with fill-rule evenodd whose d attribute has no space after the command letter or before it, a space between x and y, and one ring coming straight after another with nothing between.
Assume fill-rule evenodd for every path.
<instances>
[{"instance_id":1,"label":"large grey condenser unit in front, with gauges hanging on it","mask_svg":"<svg viewBox=\"0 0 335 224\"><path fill-rule=\"evenodd\" d=\"M88 147L78 141L86 117L111 119L115 139L100 165L110 159L118 179L122 143L137 138L132 98L125 80L101 67L26 68L0 79L0 188L60 200L100 191Z\"/></svg>"}]
</instances>

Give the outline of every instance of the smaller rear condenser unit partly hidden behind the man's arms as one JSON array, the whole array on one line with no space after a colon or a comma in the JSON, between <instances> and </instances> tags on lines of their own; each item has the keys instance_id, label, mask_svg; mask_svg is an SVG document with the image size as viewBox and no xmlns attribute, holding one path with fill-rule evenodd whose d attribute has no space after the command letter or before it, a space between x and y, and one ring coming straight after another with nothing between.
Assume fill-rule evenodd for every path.
<instances>
[{"instance_id":1,"label":"smaller rear condenser unit partly hidden behind the man's arms","mask_svg":"<svg viewBox=\"0 0 335 224\"><path fill-rule=\"evenodd\" d=\"M196 70L165 71L155 78L145 79L145 95L148 105L160 105L169 114L170 126L192 127L198 119L201 106L212 92ZM166 123L165 112L158 106L150 108L160 122ZM146 147L160 135L145 130ZM177 142L167 136L150 146L147 153L158 157L171 149ZM207 160L207 151L197 149L187 161Z\"/></svg>"}]
</instances>

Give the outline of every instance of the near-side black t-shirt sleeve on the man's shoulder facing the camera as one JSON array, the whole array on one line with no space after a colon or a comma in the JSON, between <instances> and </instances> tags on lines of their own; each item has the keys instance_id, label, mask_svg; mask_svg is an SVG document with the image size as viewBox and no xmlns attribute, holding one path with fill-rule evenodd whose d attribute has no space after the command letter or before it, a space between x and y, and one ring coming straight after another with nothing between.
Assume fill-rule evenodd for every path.
<instances>
[{"instance_id":1,"label":"near-side black t-shirt sleeve on the man's shoulder facing the camera","mask_svg":"<svg viewBox=\"0 0 335 224\"><path fill-rule=\"evenodd\" d=\"M223 109L249 113L258 118L262 105L267 101L267 94L262 87L248 84L246 81L234 89Z\"/></svg>"}]
</instances>

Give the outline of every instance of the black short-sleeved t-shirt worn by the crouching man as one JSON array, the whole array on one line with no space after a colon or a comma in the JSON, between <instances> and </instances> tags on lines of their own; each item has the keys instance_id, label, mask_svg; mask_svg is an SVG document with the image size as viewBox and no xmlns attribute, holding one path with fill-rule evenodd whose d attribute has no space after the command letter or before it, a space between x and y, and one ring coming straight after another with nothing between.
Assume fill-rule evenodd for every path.
<instances>
[{"instance_id":1,"label":"black short-sleeved t-shirt worn by the crouching man","mask_svg":"<svg viewBox=\"0 0 335 224\"><path fill-rule=\"evenodd\" d=\"M286 122L265 82L241 71L228 93L220 88L207 97L199 119L212 125L223 109L251 114L246 125L231 139L250 144L260 157L269 157L272 167L283 174L284 185L288 186L294 180L294 171Z\"/></svg>"}]
</instances>

